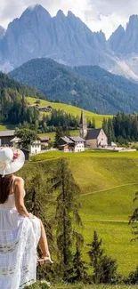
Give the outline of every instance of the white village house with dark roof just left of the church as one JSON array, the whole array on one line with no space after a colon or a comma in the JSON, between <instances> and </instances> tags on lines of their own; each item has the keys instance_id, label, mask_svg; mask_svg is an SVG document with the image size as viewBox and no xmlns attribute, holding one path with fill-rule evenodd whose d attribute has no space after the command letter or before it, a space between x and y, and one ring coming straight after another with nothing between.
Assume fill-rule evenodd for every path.
<instances>
[{"instance_id":1,"label":"white village house with dark roof just left of the church","mask_svg":"<svg viewBox=\"0 0 138 289\"><path fill-rule=\"evenodd\" d=\"M62 137L58 149L64 152L81 152L85 150L85 140L77 137Z\"/></svg>"}]
</instances>

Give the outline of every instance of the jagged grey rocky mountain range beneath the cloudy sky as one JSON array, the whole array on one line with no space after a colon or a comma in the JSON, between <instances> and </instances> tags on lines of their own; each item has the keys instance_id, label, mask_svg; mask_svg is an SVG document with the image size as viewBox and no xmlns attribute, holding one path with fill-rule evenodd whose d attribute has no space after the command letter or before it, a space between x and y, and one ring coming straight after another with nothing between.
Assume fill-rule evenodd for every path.
<instances>
[{"instance_id":1,"label":"jagged grey rocky mountain range beneath the cloudy sky","mask_svg":"<svg viewBox=\"0 0 138 289\"><path fill-rule=\"evenodd\" d=\"M52 17L43 6L29 6L7 30L0 27L0 68L8 72L34 58L51 58L74 67L98 65L138 81L138 16L119 26L107 41L72 12Z\"/></svg>"}]
</instances>

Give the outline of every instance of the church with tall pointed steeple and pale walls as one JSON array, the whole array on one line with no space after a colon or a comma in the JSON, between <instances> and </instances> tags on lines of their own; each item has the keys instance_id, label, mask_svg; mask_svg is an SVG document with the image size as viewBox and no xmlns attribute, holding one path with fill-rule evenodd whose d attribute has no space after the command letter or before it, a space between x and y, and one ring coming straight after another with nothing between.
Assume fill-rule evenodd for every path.
<instances>
[{"instance_id":1,"label":"church with tall pointed steeple and pale walls","mask_svg":"<svg viewBox=\"0 0 138 289\"><path fill-rule=\"evenodd\" d=\"M85 139L85 147L90 149L106 149L108 146L108 138L102 128L88 129L85 120L84 111L81 112L79 123L80 137Z\"/></svg>"}]
</instances>

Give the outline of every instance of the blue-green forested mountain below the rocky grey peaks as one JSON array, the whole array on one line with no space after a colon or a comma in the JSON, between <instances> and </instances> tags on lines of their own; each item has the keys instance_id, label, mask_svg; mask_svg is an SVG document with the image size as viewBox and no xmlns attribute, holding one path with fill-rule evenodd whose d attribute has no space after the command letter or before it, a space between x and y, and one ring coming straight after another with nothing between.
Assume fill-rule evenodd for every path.
<instances>
[{"instance_id":1,"label":"blue-green forested mountain below the rocky grey peaks","mask_svg":"<svg viewBox=\"0 0 138 289\"><path fill-rule=\"evenodd\" d=\"M117 114L138 110L137 84L98 67L92 73L92 68L71 69L42 58L29 60L9 76L36 87L49 100L61 100L94 112Z\"/></svg>"}]
</instances>

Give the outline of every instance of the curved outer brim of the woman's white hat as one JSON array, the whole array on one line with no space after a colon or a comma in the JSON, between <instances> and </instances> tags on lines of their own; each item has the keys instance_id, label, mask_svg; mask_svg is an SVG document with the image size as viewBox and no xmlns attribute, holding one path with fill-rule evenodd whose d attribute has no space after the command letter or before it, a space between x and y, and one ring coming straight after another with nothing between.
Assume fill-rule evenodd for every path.
<instances>
[{"instance_id":1,"label":"curved outer brim of the woman's white hat","mask_svg":"<svg viewBox=\"0 0 138 289\"><path fill-rule=\"evenodd\" d=\"M8 168L4 170L0 170L0 175L7 175L7 174L11 174L11 173L15 173L18 172L21 167L24 165L25 163L25 156L22 150L17 149L18 153L19 153L19 157L15 158L12 163L10 165L8 165Z\"/></svg>"}]
</instances>

